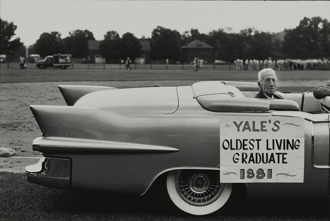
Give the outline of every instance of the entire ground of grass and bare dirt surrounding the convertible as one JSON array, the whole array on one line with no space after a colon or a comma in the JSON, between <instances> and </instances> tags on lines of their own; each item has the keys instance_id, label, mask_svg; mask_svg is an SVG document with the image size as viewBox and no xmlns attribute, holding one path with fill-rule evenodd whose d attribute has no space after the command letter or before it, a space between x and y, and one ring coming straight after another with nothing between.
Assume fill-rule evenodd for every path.
<instances>
[{"instance_id":1,"label":"entire ground of grass and bare dirt surrounding the convertible","mask_svg":"<svg viewBox=\"0 0 330 221\"><path fill-rule=\"evenodd\" d=\"M154 65L152 69L139 66L129 71L111 65L105 69L103 66L87 69L77 64L67 70L39 70L34 64L28 64L27 70L18 67L18 64L10 64L9 68L7 64L0 66L0 146L16 149L16 156L38 156L32 152L31 142L40 136L40 130L28 106L65 105L57 89L57 84L62 82L121 88L186 85L186 82L202 80L256 82L257 79L257 71L233 71L228 67L213 70L212 66L199 72L188 69L189 66L184 70L180 66L166 70L161 65ZM330 79L330 71L278 71L277 76L278 90L311 91ZM22 164L19 160L12 163ZM226 212L195 217L180 213L172 206L163 195L166 190L151 191L142 197L56 190L27 182L24 173L0 172L0 190L0 220L328 220L329 217L328 204L256 205L244 201Z\"/></svg>"}]
</instances>

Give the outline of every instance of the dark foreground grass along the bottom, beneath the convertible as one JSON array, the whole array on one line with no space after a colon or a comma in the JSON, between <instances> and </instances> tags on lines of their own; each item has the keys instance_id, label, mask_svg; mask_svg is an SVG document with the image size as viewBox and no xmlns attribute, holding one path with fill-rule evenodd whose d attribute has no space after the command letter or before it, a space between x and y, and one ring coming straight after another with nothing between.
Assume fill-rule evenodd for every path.
<instances>
[{"instance_id":1,"label":"dark foreground grass along the bottom, beneath the convertible","mask_svg":"<svg viewBox=\"0 0 330 221\"><path fill-rule=\"evenodd\" d=\"M151 190L145 196L57 190L26 181L24 174L0 172L0 220L328 220L325 204L232 204L207 216L178 211ZM162 190L162 188L160 188ZM159 190L159 189L158 189Z\"/></svg>"}]
</instances>

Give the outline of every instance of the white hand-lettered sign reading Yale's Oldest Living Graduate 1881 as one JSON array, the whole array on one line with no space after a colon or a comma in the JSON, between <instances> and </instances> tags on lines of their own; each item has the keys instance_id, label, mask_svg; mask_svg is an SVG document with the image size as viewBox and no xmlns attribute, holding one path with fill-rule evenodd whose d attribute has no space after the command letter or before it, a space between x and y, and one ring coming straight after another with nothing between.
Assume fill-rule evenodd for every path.
<instances>
[{"instance_id":1,"label":"white hand-lettered sign reading Yale's Oldest Living Graduate 1881","mask_svg":"<svg viewBox=\"0 0 330 221\"><path fill-rule=\"evenodd\" d=\"M300 117L220 119L221 182L304 182Z\"/></svg>"}]
</instances>

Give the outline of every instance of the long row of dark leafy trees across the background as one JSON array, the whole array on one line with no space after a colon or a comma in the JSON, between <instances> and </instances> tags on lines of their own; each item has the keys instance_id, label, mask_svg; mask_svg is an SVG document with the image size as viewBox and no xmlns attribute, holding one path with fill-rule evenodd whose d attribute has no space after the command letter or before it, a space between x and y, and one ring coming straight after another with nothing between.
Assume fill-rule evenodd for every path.
<instances>
[{"instance_id":1,"label":"long row of dark leafy trees across the background","mask_svg":"<svg viewBox=\"0 0 330 221\"><path fill-rule=\"evenodd\" d=\"M20 38L11 40L17 26L13 22L1 20L1 53L23 53ZM304 17L298 26L284 29L280 33L259 31L254 27L240 33L231 33L230 28L212 30L208 34L198 29L190 29L180 34L177 30L157 26L152 30L149 40L151 59L172 61L181 60L181 47L200 40L214 47L214 59L232 62L234 59L265 59L272 52L281 52L286 58L323 58L330 57L330 22L320 17ZM89 30L74 30L62 39L57 31L43 33L37 42L28 47L29 53L46 56L55 53L71 53L73 57L88 56L88 40L95 40ZM110 30L104 35L100 45L101 53L107 61L130 57L134 59L142 54L142 45L132 33L119 36Z\"/></svg>"}]
</instances>

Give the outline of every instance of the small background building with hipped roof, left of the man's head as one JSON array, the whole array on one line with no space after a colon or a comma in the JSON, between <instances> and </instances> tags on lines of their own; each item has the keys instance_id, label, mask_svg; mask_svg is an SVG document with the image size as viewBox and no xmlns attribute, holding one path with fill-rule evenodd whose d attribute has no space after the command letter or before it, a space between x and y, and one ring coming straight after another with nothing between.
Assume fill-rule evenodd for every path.
<instances>
[{"instance_id":1,"label":"small background building with hipped roof, left of the man's head","mask_svg":"<svg viewBox=\"0 0 330 221\"><path fill-rule=\"evenodd\" d=\"M195 57L199 57L204 62L212 62L214 60L214 50L214 47L205 42L194 40L181 47L181 60L191 62Z\"/></svg>"}]
</instances>

